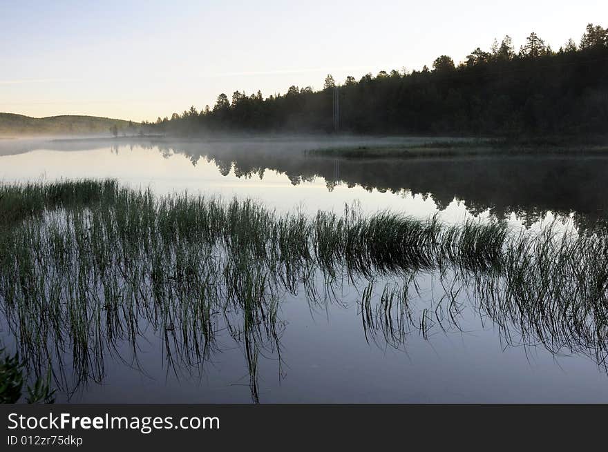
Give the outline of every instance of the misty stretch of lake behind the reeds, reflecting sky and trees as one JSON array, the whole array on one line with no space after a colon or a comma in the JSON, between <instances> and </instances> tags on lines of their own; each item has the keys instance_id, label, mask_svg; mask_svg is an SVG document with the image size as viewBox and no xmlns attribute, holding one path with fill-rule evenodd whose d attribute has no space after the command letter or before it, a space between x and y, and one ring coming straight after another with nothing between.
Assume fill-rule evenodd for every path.
<instances>
[{"instance_id":1,"label":"misty stretch of lake behind the reeds, reflecting sky and trees","mask_svg":"<svg viewBox=\"0 0 608 452\"><path fill-rule=\"evenodd\" d=\"M439 210L459 220L466 210L515 216L525 226L547 215L573 215L578 226L589 227L608 212L608 158L597 156L326 159L303 152L331 146L324 141L39 146L0 156L0 178L117 177L135 186L152 184L161 193L212 190L257 197L282 210L303 204L313 212L341 210L359 199L370 211L392 208L426 217Z\"/></svg>"}]
</instances>

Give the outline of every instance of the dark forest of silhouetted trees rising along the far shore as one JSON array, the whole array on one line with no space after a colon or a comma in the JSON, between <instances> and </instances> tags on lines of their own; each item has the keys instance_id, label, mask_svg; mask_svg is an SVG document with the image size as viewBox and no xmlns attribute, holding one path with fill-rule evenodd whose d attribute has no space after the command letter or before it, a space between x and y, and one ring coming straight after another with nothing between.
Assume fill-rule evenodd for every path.
<instances>
[{"instance_id":1,"label":"dark forest of silhouetted trees rising along the far shore","mask_svg":"<svg viewBox=\"0 0 608 452\"><path fill-rule=\"evenodd\" d=\"M291 86L283 95L224 93L212 107L194 106L146 124L155 132L332 132L334 92L339 130L354 133L577 135L608 126L608 29L592 23L576 43L553 50L532 32L518 51L511 37L475 48L455 64L368 73L322 90Z\"/></svg>"}]
</instances>

